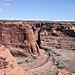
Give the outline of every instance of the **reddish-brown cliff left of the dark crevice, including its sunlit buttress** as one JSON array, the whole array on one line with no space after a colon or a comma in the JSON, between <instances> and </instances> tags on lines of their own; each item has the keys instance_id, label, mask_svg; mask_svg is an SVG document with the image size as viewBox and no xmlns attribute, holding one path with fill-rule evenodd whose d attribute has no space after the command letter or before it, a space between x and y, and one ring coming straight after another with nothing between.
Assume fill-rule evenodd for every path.
<instances>
[{"instance_id":1,"label":"reddish-brown cliff left of the dark crevice, including its sunlit buttress","mask_svg":"<svg viewBox=\"0 0 75 75\"><path fill-rule=\"evenodd\" d=\"M39 47L32 26L24 22L1 21L0 43L18 46L31 54L39 54Z\"/></svg>"}]
</instances>

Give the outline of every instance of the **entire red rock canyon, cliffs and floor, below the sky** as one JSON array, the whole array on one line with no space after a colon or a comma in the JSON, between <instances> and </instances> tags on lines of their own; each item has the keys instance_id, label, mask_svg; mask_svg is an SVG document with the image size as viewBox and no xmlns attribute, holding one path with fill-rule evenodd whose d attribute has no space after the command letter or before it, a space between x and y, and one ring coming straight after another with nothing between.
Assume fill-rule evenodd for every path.
<instances>
[{"instance_id":1,"label":"entire red rock canyon, cliffs and floor, below the sky","mask_svg":"<svg viewBox=\"0 0 75 75\"><path fill-rule=\"evenodd\" d=\"M0 44L1 75L75 75L75 22L0 20Z\"/></svg>"}]
</instances>

